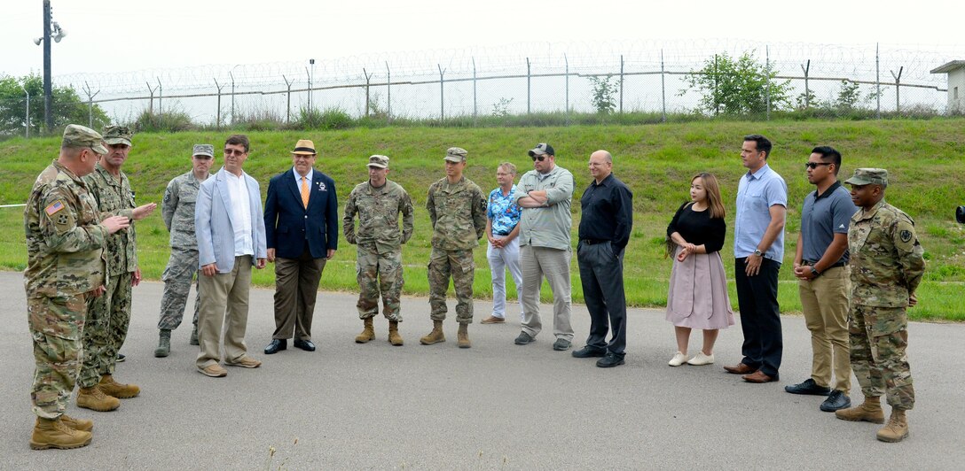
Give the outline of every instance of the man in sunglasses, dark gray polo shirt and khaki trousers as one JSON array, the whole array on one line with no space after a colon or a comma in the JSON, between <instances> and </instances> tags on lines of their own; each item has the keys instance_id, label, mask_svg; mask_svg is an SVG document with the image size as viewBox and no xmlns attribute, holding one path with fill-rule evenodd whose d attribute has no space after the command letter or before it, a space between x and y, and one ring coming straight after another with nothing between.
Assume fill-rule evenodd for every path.
<instances>
[{"instance_id":1,"label":"man in sunglasses, dark gray polo shirt and khaki trousers","mask_svg":"<svg viewBox=\"0 0 965 471\"><path fill-rule=\"evenodd\" d=\"M804 321L811 330L813 362L811 378L785 386L785 391L828 396L820 409L834 412L851 406L847 396L851 390L847 229L858 208L838 181L840 152L828 146L814 147L806 166L808 181L817 189L804 198L794 275ZM832 366L834 390L829 387Z\"/></svg>"}]
</instances>

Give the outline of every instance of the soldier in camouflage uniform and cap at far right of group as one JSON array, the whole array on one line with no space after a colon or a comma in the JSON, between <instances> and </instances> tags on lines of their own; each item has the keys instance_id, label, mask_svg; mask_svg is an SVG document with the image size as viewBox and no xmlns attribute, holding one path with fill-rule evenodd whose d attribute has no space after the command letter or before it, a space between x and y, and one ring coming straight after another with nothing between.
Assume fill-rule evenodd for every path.
<instances>
[{"instance_id":1,"label":"soldier in camouflage uniform and cap at far right of group","mask_svg":"<svg viewBox=\"0 0 965 471\"><path fill-rule=\"evenodd\" d=\"M915 289L924 275L924 249L915 222L885 202L888 170L858 169L845 181L851 198L861 208L851 217L848 250L851 254L851 368L861 384L865 402L835 412L839 419L881 424L880 398L888 396L892 416L877 433L881 441L908 436L905 411L915 406L908 367L908 317L915 305Z\"/></svg>"}]
</instances>

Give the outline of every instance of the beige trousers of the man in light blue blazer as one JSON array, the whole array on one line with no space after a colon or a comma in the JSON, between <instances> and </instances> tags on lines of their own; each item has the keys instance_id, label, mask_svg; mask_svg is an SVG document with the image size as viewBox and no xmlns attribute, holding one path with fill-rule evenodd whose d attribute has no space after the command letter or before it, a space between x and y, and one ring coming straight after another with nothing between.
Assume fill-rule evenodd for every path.
<instances>
[{"instance_id":1,"label":"beige trousers of the man in light blue blazer","mask_svg":"<svg viewBox=\"0 0 965 471\"><path fill-rule=\"evenodd\" d=\"M221 361L221 328L225 329L225 358L237 361L248 347L244 343L248 327L248 288L251 286L251 255L234 257L231 273L200 275L201 310L198 312L197 365L207 368Z\"/></svg>"}]
</instances>

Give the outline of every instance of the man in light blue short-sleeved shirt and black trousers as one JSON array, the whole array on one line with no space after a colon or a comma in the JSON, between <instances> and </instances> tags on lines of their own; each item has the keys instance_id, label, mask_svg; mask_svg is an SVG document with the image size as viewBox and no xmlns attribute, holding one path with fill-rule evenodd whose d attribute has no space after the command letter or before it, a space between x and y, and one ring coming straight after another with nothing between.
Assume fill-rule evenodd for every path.
<instances>
[{"instance_id":1,"label":"man in light blue short-sleeved shirt and black trousers","mask_svg":"<svg viewBox=\"0 0 965 471\"><path fill-rule=\"evenodd\" d=\"M740 328L744 344L740 363L725 366L748 382L778 380L784 343L778 305L778 271L784 259L787 185L767 165L771 142L752 134L744 137L740 158L747 173L737 187L733 256Z\"/></svg>"}]
</instances>

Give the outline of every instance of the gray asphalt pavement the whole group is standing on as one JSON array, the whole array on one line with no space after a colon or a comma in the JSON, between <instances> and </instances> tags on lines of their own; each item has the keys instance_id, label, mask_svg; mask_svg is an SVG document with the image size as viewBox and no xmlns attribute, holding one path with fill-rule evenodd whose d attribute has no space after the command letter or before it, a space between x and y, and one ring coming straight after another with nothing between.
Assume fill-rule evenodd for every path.
<instances>
[{"instance_id":1,"label":"gray asphalt pavement the whole group is standing on","mask_svg":"<svg viewBox=\"0 0 965 471\"><path fill-rule=\"evenodd\" d=\"M518 305L510 303L507 324L483 326L491 303L477 301L473 346L458 349L454 302L448 341L423 346L428 302L405 298L405 345L393 347L382 317L376 340L355 344L356 297L322 292L317 351L289 345L265 355L273 291L253 289L247 344L262 367L227 367L228 377L212 379L194 366L190 314L172 335L171 355L153 356L157 282L134 289L127 360L115 375L140 385L141 395L112 412L71 399L70 415L95 421L91 445L32 451L34 360L22 279L0 273L0 302L8 306L0 324L0 469L962 469L965 462L965 325L909 327L917 404L908 413L910 436L887 444L874 437L880 426L837 420L818 410L822 398L784 391L810 376L810 333L799 316L782 319L781 381L751 384L722 368L740 360L739 324L721 332L715 364L672 368L674 328L655 309L629 310L626 364L601 369L552 350L550 305L541 306L547 325L536 343L516 346ZM586 308L574 305L575 348L589 326ZM697 353L700 332L691 342Z\"/></svg>"}]
</instances>

